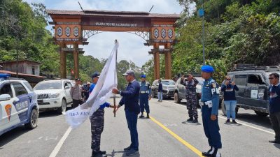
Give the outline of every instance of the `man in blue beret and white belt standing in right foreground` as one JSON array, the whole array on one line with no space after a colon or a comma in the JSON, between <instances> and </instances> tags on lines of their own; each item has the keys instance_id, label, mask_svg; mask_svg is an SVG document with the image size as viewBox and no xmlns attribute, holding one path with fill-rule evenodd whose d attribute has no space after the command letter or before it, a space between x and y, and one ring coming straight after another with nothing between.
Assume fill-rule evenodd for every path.
<instances>
[{"instance_id":1,"label":"man in blue beret and white belt standing in right foreground","mask_svg":"<svg viewBox=\"0 0 280 157\"><path fill-rule=\"evenodd\" d=\"M218 126L218 105L219 105L219 89L218 84L212 79L214 68L204 65L201 68L202 77L204 78L202 86L202 121L204 133L208 138L211 149L202 152L202 156L221 156L219 149L222 148L221 135Z\"/></svg>"}]
</instances>

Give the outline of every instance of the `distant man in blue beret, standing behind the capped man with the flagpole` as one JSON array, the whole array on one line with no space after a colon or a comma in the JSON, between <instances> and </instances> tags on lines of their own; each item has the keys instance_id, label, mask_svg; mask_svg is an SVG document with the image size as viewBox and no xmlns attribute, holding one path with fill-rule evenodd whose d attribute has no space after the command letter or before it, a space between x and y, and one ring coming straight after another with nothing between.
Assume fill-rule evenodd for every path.
<instances>
[{"instance_id":1,"label":"distant man in blue beret, standing behind the capped man with the flagpole","mask_svg":"<svg viewBox=\"0 0 280 157\"><path fill-rule=\"evenodd\" d=\"M144 109L147 113L147 119L149 119L150 114L150 107L148 105L148 100L151 100L151 87L150 83L146 82L146 75L141 75L141 82L140 82L140 109L141 109L141 116L139 118L144 118Z\"/></svg>"}]
</instances>

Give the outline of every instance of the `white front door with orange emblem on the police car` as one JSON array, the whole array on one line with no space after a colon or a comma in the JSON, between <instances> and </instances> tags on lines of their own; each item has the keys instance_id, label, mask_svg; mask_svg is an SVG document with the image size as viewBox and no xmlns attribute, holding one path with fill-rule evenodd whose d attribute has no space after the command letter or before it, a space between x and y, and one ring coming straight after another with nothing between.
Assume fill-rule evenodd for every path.
<instances>
[{"instance_id":1,"label":"white front door with orange emblem on the police car","mask_svg":"<svg viewBox=\"0 0 280 157\"><path fill-rule=\"evenodd\" d=\"M20 123L18 111L15 107L15 103L19 99L15 97L10 83L2 84L0 87L0 96L3 94L10 95L10 99L0 101L0 135L4 130Z\"/></svg>"}]
</instances>

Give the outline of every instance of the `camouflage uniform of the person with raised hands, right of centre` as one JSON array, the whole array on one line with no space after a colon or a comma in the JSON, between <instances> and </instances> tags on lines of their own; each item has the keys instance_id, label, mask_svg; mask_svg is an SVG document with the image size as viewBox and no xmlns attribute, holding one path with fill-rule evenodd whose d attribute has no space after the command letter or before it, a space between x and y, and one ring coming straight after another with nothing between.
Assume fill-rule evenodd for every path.
<instances>
[{"instance_id":1,"label":"camouflage uniform of the person with raised hands, right of centre","mask_svg":"<svg viewBox=\"0 0 280 157\"><path fill-rule=\"evenodd\" d=\"M196 96L196 86L198 81L194 78L191 81L186 80L184 82L186 85L186 99L187 99L187 109L188 116L190 118L197 119L197 96Z\"/></svg>"}]
</instances>

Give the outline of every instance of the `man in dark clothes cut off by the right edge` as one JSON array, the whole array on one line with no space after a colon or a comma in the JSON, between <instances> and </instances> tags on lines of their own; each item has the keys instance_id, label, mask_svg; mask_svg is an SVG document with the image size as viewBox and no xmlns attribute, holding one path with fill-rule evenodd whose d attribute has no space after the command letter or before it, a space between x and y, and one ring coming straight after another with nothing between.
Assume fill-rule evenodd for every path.
<instances>
[{"instance_id":1,"label":"man in dark clothes cut off by the right edge","mask_svg":"<svg viewBox=\"0 0 280 157\"><path fill-rule=\"evenodd\" d=\"M280 144L280 83L279 74L269 75L269 119L275 132L275 139L269 140L271 143Z\"/></svg>"}]
</instances>

